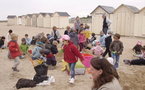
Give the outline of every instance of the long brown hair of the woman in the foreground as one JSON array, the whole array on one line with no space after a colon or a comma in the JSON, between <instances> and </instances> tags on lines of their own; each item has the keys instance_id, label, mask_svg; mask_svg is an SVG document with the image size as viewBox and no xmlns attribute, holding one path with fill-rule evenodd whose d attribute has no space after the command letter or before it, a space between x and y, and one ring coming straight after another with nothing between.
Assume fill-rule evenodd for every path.
<instances>
[{"instance_id":1,"label":"long brown hair of the woman in the foreground","mask_svg":"<svg viewBox=\"0 0 145 90\"><path fill-rule=\"evenodd\" d=\"M95 57L91 60L91 66L96 70L102 70L102 74L97 78L94 79L94 86L93 88L98 89L102 85L111 82L113 78L119 79L118 73L116 69L110 64L106 58L103 57Z\"/></svg>"}]
</instances>

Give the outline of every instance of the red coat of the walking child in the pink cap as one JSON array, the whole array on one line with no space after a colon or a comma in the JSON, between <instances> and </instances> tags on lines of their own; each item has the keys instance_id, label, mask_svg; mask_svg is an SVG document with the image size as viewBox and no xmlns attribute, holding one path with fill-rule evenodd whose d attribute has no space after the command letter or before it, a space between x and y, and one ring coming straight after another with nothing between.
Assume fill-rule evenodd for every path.
<instances>
[{"instance_id":1,"label":"red coat of the walking child in the pink cap","mask_svg":"<svg viewBox=\"0 0 145 90\"><path fill-rule=\"evenodd\" d=\"M63 51L64 51L64 60L67 63L77 62L78 57L80 58L80 60L84 60L79 50L72 42L69 42L68 45L64 45Z\"/></svg>"}]
</instances>

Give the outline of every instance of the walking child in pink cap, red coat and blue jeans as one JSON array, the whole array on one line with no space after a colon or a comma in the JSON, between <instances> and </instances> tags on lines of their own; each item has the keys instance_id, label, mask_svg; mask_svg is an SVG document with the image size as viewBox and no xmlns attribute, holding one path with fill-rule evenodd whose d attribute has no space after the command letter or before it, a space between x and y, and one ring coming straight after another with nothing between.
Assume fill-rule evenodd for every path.
<instances>
[{"instance_id":1,"label":"walking child in pink cap, red coat and blue jeans","mask_svg":"<svg viewBox=\"0 0 145 90\"><path fill-rule=\"evenodd\" d=\"M75 81L75 65L78 61L77 57L79 57L81 61L83 61L84 58L82 57L77 47L70 41L70 37L68 35L63 35L62 40L64 44L64 61L66 61L69 64L70 68L71 78L69 80L69 83L73 84Z\"/></svg>"}]
</instances>

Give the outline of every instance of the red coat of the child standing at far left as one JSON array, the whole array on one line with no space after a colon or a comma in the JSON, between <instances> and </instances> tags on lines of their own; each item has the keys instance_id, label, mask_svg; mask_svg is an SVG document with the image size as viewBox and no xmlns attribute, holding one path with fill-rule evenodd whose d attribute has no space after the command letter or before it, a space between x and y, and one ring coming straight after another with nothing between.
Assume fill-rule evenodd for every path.
<instances>
[{"instance_id":1,"label":"red coat of the child standing at far left","mask_svg":"<svg viewBox=\"0 0 145 90\"><path fill-rule=\"evenodd\" d=\"M15 59L18 56L21 56L19 45L16 41L10 41L8 43L8 48L10 52L10 56L12 59Z\"/></svg>"}]
</instances>

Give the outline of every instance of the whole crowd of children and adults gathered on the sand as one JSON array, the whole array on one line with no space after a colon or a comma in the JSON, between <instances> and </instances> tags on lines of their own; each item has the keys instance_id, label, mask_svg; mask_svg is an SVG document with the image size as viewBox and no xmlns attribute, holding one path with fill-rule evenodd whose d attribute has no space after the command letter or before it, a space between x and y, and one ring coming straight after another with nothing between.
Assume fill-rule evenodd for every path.
<instances>
[{"instance_id":1,"label":"whole crowd of children and adults gathered on the sand","mask_svg":"<svg viewBox=\"0 0 145 90\"><path fill-rule=\"evenodd\" d=\"M89 71L94 80L92 90L122 90L118 81L117 68L119 68L119 59L124 48L123 43L120 41L119 34L113 34L108 29L111 22L105 15L103 15L103 19L103 30L100 32L99 38L96 37L95 33L91 32L88 25L82 24L79 17L76 17L74 27L67 26L64 35L61 35L57 27L54 26L52 32L46 34L46 36L44 33L39 33L31 39L28 34L25 34L24 38L21 39L20 45L17 43L18 35L9 30L6 37L2 36L0 38L0 48L9 49L8 58L14 61L13 71L19 72L18 65L20 64L20 59L26 58L27 55L31 57L32 61L39 61L39 66L45 68L45 73L43 75L38 74L38 65L34 65L36 71L34 81L37 84L50 78L47 77L49 66L55 67L57 65L58 44L61 44L64 61L69 65L69 83L71 84L75 82L76 62L78 58L83 62L84 58L81 53L88 49L95 57L90 62L91 67ZM30 50L30 45L34 45L33 50ZM124 60L124 63L145 65L145 46L141 46L138 42L133 50L137 54L135 56L138 56L139 59ZM107 60L105 58L107 53L112 58L111 63L110 59Z\"/></svg>"}]
</instances>

